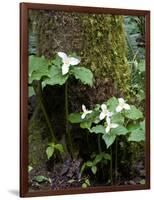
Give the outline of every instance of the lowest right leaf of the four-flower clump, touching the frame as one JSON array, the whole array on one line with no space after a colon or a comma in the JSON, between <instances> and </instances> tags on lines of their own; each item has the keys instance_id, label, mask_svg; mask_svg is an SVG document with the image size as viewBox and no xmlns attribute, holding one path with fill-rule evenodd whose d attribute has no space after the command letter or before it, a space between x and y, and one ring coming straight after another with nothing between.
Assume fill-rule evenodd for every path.
<instances>
[{"instance_id":1,"label":"lowest right leaf of the four-flower clump, touching the frame","mask_svg":"<svg viewBox=\"0 0 154 200\"><path fill-rule=\"evenodd\" d=\"M135 129L128 137L128 141L140 142L145 141L145 132L142 129Z\"/></svg>"}]
</instances>

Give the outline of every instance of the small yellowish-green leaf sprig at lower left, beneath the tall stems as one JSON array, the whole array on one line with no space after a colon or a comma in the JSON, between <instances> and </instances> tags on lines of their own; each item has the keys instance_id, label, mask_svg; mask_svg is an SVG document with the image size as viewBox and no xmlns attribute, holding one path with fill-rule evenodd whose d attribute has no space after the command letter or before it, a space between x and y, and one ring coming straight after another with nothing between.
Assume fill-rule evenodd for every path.
<instances>
[{"instance_id":1,"label":"small yellowish-green leaf sprig at lower left, beneath the tall stems","mask_svg":"<svg viewBox=\"0 0 154 200\"><path fill-rule=\"evenodd\" d=\"M64 148L62 144L49 143L46 149L48 160L54 155L55 150L57 150L60 153L64 153Z\"/></svg>"}]
</instances>

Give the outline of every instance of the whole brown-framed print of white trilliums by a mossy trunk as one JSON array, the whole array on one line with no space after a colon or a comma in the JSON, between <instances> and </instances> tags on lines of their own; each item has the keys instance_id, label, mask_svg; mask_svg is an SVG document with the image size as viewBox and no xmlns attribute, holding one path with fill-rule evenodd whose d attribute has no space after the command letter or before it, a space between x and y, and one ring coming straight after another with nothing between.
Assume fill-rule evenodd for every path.
<instances>
[{"instance_id":1,"label":"whole brown-framed print of white trilliums by a mossy trunk","mask_svg":"<svg viewBox=\"0 0 154 200\"><path fill-rule=\"evenodd\" d=\"M20 4L20 196L150 188L150 11Z\"/></svg>"}]
</instances>

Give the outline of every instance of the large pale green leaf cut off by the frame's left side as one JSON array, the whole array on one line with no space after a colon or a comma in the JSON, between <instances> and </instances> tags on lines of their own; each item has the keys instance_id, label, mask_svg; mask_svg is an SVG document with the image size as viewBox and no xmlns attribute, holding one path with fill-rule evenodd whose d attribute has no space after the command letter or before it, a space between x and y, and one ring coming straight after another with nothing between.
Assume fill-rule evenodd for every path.
<instances>
[{"instance_id":1,"label":"large pale green leaf cut off by the frame's left side","mask_svg":"<svg viewBox=\"0 0 154 200\"><path fill-rule=\"evenodd\" d=\"M48 69L49 61L44 57L29 56L29 76L32 75L33 71Z\"/></svg>"}]
</instances>

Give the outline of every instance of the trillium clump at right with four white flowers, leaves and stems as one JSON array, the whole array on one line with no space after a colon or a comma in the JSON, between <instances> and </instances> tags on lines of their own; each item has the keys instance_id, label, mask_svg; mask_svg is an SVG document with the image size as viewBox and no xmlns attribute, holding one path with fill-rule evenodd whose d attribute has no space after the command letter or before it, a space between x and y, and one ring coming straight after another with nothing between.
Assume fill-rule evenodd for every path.
<instances>
[{"instance_id":1,"label":"trillium clump at right with four white flowers, leaves and stems","mask_svg":"<svg viewBox=\"0 0 154 200\"><path fill-rule=\"evenodd\" d=\"M112 146L117 143L117 138L125 136L128 142L140 142L145 140L145 123L142 112L134 105L129 105L123 98L111 97L103 104L96 104L91 110L82 105L82 111L71 113L69 121L80 124L82 129L87 129L89 135L98 137L98 157L101 153L101 142L105 142L106 149L110 153L110 182L112 184ZM100 141L100 138L102 141ZM117 144L115 149L115 172L117 174ZM99 162L101 159L99 160ZM86 167L91 168L95 174L97 162L87 161L83 164L81 172Z\"/></svg>"}]
</instances>

